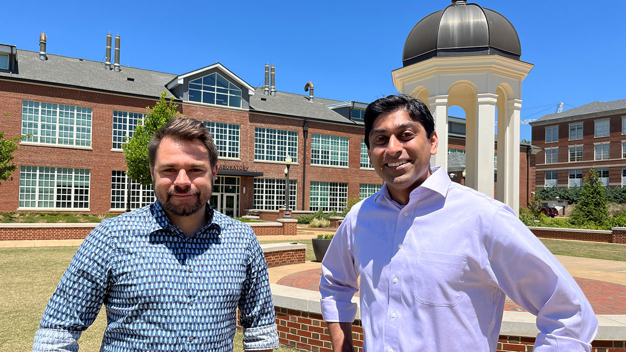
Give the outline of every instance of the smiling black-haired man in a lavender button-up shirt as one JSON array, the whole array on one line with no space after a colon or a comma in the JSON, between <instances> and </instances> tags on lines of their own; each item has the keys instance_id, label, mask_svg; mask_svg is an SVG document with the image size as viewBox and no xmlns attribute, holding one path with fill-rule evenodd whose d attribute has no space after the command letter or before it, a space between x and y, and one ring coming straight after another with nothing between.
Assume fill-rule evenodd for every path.
<instances>
[{"instance_id":1,"label":"smiling black-haired man in a lavender button-up shirt","mask_svg":"<svg viewBox=\"0 0 626 352\"><path fill-rule=\"evenodd\" d=\"M334 351L352 351L360 290L366 352L494 352L505 296L537 316L535 352L589 352L598 323L572 276L509 207L429 167L426 105L387 96L364 122L385 184L352 207L322 261Z\"/></svg>"}]
</instances>

